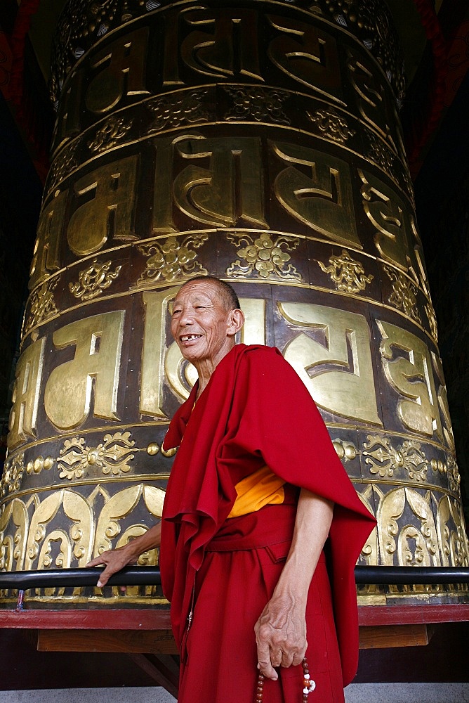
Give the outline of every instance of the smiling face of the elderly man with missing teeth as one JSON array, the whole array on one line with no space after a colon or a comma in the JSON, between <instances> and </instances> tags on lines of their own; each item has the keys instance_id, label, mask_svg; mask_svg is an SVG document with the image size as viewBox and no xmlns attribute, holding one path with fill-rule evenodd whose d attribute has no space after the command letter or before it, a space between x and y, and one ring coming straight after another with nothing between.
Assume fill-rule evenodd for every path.
<instances>
[{"instance_id":1,"label":"smiling face of the elderly man with missing teeth","mask_svg":"<svg viewBox=\"0 0 469 703\"><path fill-rule=\"evenodd\" d=\"M232 346L231 312L216 283L185 283L176 295L171 318L173 335L185 359L218 363ZM231 334L229 334L231 333Z\"/></svg>"}]
</instances>

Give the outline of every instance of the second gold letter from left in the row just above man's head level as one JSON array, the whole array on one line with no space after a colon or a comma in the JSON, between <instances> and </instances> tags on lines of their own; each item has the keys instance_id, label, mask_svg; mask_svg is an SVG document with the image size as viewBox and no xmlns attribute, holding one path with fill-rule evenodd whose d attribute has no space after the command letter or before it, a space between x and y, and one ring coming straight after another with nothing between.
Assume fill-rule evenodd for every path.
<instances>
[{"instance_id":1,"label":"second gold letter from left in the row just above man's head level","mask_svg":"<svg viewBox=\"0 0 469 703\"><path fill-rule=\"evenodd\" d=\"M86 174L74 184L78 202L70 217L67 240L77 256L100 250L107 238L128 240L133 234L138 156L129 156ZM93 197L90 198L90 193Z\"/></svg>"}]
</instances>

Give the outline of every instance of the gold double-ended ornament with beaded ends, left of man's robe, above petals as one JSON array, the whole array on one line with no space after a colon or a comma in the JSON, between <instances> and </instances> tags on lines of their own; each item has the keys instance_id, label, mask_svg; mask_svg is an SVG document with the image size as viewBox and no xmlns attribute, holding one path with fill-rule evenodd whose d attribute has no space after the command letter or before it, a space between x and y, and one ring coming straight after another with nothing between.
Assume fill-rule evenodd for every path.
<instances>
[{"instance_id":1,"label":"gold double-ended ornament with beaded ends, left of man's robe, above petals","mask_svg":"<svg viewBox=\"0 0 469 703\"><path fill-rule=\"evenodd\" d=\"M81 479L88 469L100 469L104 475L118 476L130 471L128 464L134 457L131 453L135 442L130 432L105 434L104 441L96 447L85 446L84 437L65 439L58 456L61 479Z\"/></svg>"}]
</instances>

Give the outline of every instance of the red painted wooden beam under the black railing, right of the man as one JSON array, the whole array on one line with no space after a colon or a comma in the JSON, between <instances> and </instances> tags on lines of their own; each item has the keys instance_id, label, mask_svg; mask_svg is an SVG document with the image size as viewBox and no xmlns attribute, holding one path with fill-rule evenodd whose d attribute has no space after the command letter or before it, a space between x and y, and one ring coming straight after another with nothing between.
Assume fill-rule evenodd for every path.
<instances>
[{"instance_id":1,"label":"red painted wooden beam under the black railing, right of the man","mask_svg":"<svg viewBox=\"0 0 469 703\"><path fill-rule=\"evenodd\" d=\"M358 609L360 626L408 625L469 620L469 604L442 605L362 605Z\"/></svg>"}]
</instances>

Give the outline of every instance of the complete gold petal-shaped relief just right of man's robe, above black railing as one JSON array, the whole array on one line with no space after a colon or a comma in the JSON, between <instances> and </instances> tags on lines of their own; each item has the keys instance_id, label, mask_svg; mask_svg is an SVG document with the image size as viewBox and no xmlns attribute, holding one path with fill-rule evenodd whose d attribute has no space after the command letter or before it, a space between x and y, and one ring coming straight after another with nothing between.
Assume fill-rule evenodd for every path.
<instances>
[{"instance_id":1,"label":"complete gold petal-shaped relief just right of man's robe, above black railing","mask_svg":"<svg viewBox=\"0 0 469 703\"><path fill-rule=\"evenodd\" d=\"M383 494L376 511L381 563L384 566L440 566L438 538L431 506L431 494L424 496L409 488L392 489ZM420 522L420 529L409 524L404 516L408 508Z\"/></svg>"}]
</instances>

